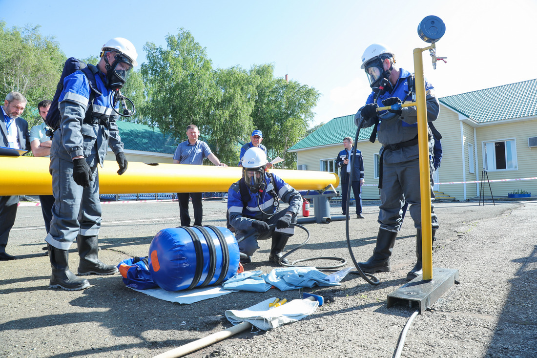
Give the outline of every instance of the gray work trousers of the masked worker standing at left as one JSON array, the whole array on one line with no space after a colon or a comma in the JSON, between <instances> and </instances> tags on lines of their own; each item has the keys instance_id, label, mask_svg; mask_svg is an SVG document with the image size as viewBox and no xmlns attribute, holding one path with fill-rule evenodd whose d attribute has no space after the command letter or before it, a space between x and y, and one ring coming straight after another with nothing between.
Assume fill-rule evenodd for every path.
<instances>
[{"instance_id":1,"label":"gray work trousers of the masked worker standing at left","mask_svg":"<svg viewBox=\"0 0 537 358\"><path fill-rule=\"evenodd\" d=\"M72 178L73 163L59 156L50 157L54 206L50 231L45 241L67 250L78 234L97 236L101 223L99 174L91 168L90 186L82 188Z\"/></svg>"}]
</instances>

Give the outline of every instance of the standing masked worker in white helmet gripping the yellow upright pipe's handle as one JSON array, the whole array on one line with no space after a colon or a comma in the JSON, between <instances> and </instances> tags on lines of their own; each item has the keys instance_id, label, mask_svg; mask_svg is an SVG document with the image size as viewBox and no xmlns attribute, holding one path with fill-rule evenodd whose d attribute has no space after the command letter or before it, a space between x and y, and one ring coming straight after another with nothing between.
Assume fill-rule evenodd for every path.
<instances>
[{"instance_id":1,"label":"standing masked worker in white helmet gripping the yellow upright pipe's handle","mask_svg":"<svg viewBox=\"0 0 537 358\"><path fill-rule=\"evenodd\" d=\"M373 44L362 55L361 68L365 70L373 91L366 105L354 116L354 123L362 128L374 126L370 140L375 141L378 133L380 149L379 189L381 205L379 207L380 229L376 239L373 256L366 262L360 262L364 272L390 271L390 256L397 233L401 228L401 207L410 204L410 215L417 229L416 256L417 263L407 274L412 280L422 274L422 203L419 181L418 128L415 107L377 112L379 106L391 106L412 101L413 74L403 68L395 68L395 55L382 44ZM422 80L417 78L416 80ZM425 82L427 121L429 123L429 153L432 157L433 135L438 133L432 126L440 111L438 98L433 86ZM432 161L431 161L432 163ZM432 170L431 170L432 173ZM431 176L431 198L434 198ZM438 218L431 203L423 203L424 210L430 210L432 223L432 241L438 228Z\"/></svg>"}]
</instances>

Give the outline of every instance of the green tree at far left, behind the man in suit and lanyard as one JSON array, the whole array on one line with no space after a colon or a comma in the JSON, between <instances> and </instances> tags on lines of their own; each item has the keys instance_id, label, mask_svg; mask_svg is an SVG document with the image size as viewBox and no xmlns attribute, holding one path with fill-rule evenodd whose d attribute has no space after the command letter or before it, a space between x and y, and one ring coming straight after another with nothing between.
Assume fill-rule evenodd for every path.
<instances>
[{"instance_id":1,"label":"green tree at far left, behind the man in suit and lanyard","mask_svg":"<svg viewBox=\"0 0 537 358\"><path fill-rule=\"evenodd\" d=\"M23 94L30 125L40 123L37 104L54 96L66 60L54 37L41 35L39 27L6 28L0 22L0 97Z\"/></svg>"}]
</instances>

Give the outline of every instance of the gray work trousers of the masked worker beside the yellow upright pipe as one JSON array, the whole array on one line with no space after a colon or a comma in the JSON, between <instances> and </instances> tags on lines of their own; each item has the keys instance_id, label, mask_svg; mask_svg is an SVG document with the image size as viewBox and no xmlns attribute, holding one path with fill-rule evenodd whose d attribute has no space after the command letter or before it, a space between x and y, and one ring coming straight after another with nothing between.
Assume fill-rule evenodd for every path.
<instances>
[{"instance_id":1,"label":"gray work trousers of the masked worker beside the yellow upright pipe","mask_svg":"<svg viewBox=\"0 0 537 358\"><path fill-rule=\"evenodd\" d=\"M432 168L431 168L432 169ZM379 206L379 224L384 230L398 232L403 222L402 210L405 200L410 204L410 216L416 228L422 227L421 195L419 187L419 161L417 159L396 164L383 163L381 205ZM432 173L432 171L431 171ZM431 199L434 198L433 180L431 182ZM438 228L438 218L431 205L431 224Z\"/></svg>"}]
</instances>

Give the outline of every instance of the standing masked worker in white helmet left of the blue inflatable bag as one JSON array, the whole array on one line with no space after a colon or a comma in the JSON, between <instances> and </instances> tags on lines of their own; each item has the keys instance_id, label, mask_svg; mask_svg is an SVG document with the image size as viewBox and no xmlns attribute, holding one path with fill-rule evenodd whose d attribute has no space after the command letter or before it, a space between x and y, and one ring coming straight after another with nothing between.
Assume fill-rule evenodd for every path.
<instances>
[{"instance_id":1,"label":"standing masked worker in white helmet left of the blue inflatable bag","mask_svg":"<svg viewBox=\"0 0 537 358\"><path fill-rule=\"evenodd\" d=\"M78 70L64 78L58 100L61 119L50 148L55 202L45 241L52 267L51 288L73 291L89 287L88 280L69 270L68 250L75 240L80 256L78 275L112 275L118 271L97 255L101 223L97 164L103 166L110 145L119 165L118 174L127 170L115 123L117 106L111 103L111 95L125 84L129 71L137 65L137 56L129 40L113 38L101 48L97 66L88 65L89 75ZM95 79L89 78L91 74Z\"/></svg>"}]
</instances>

